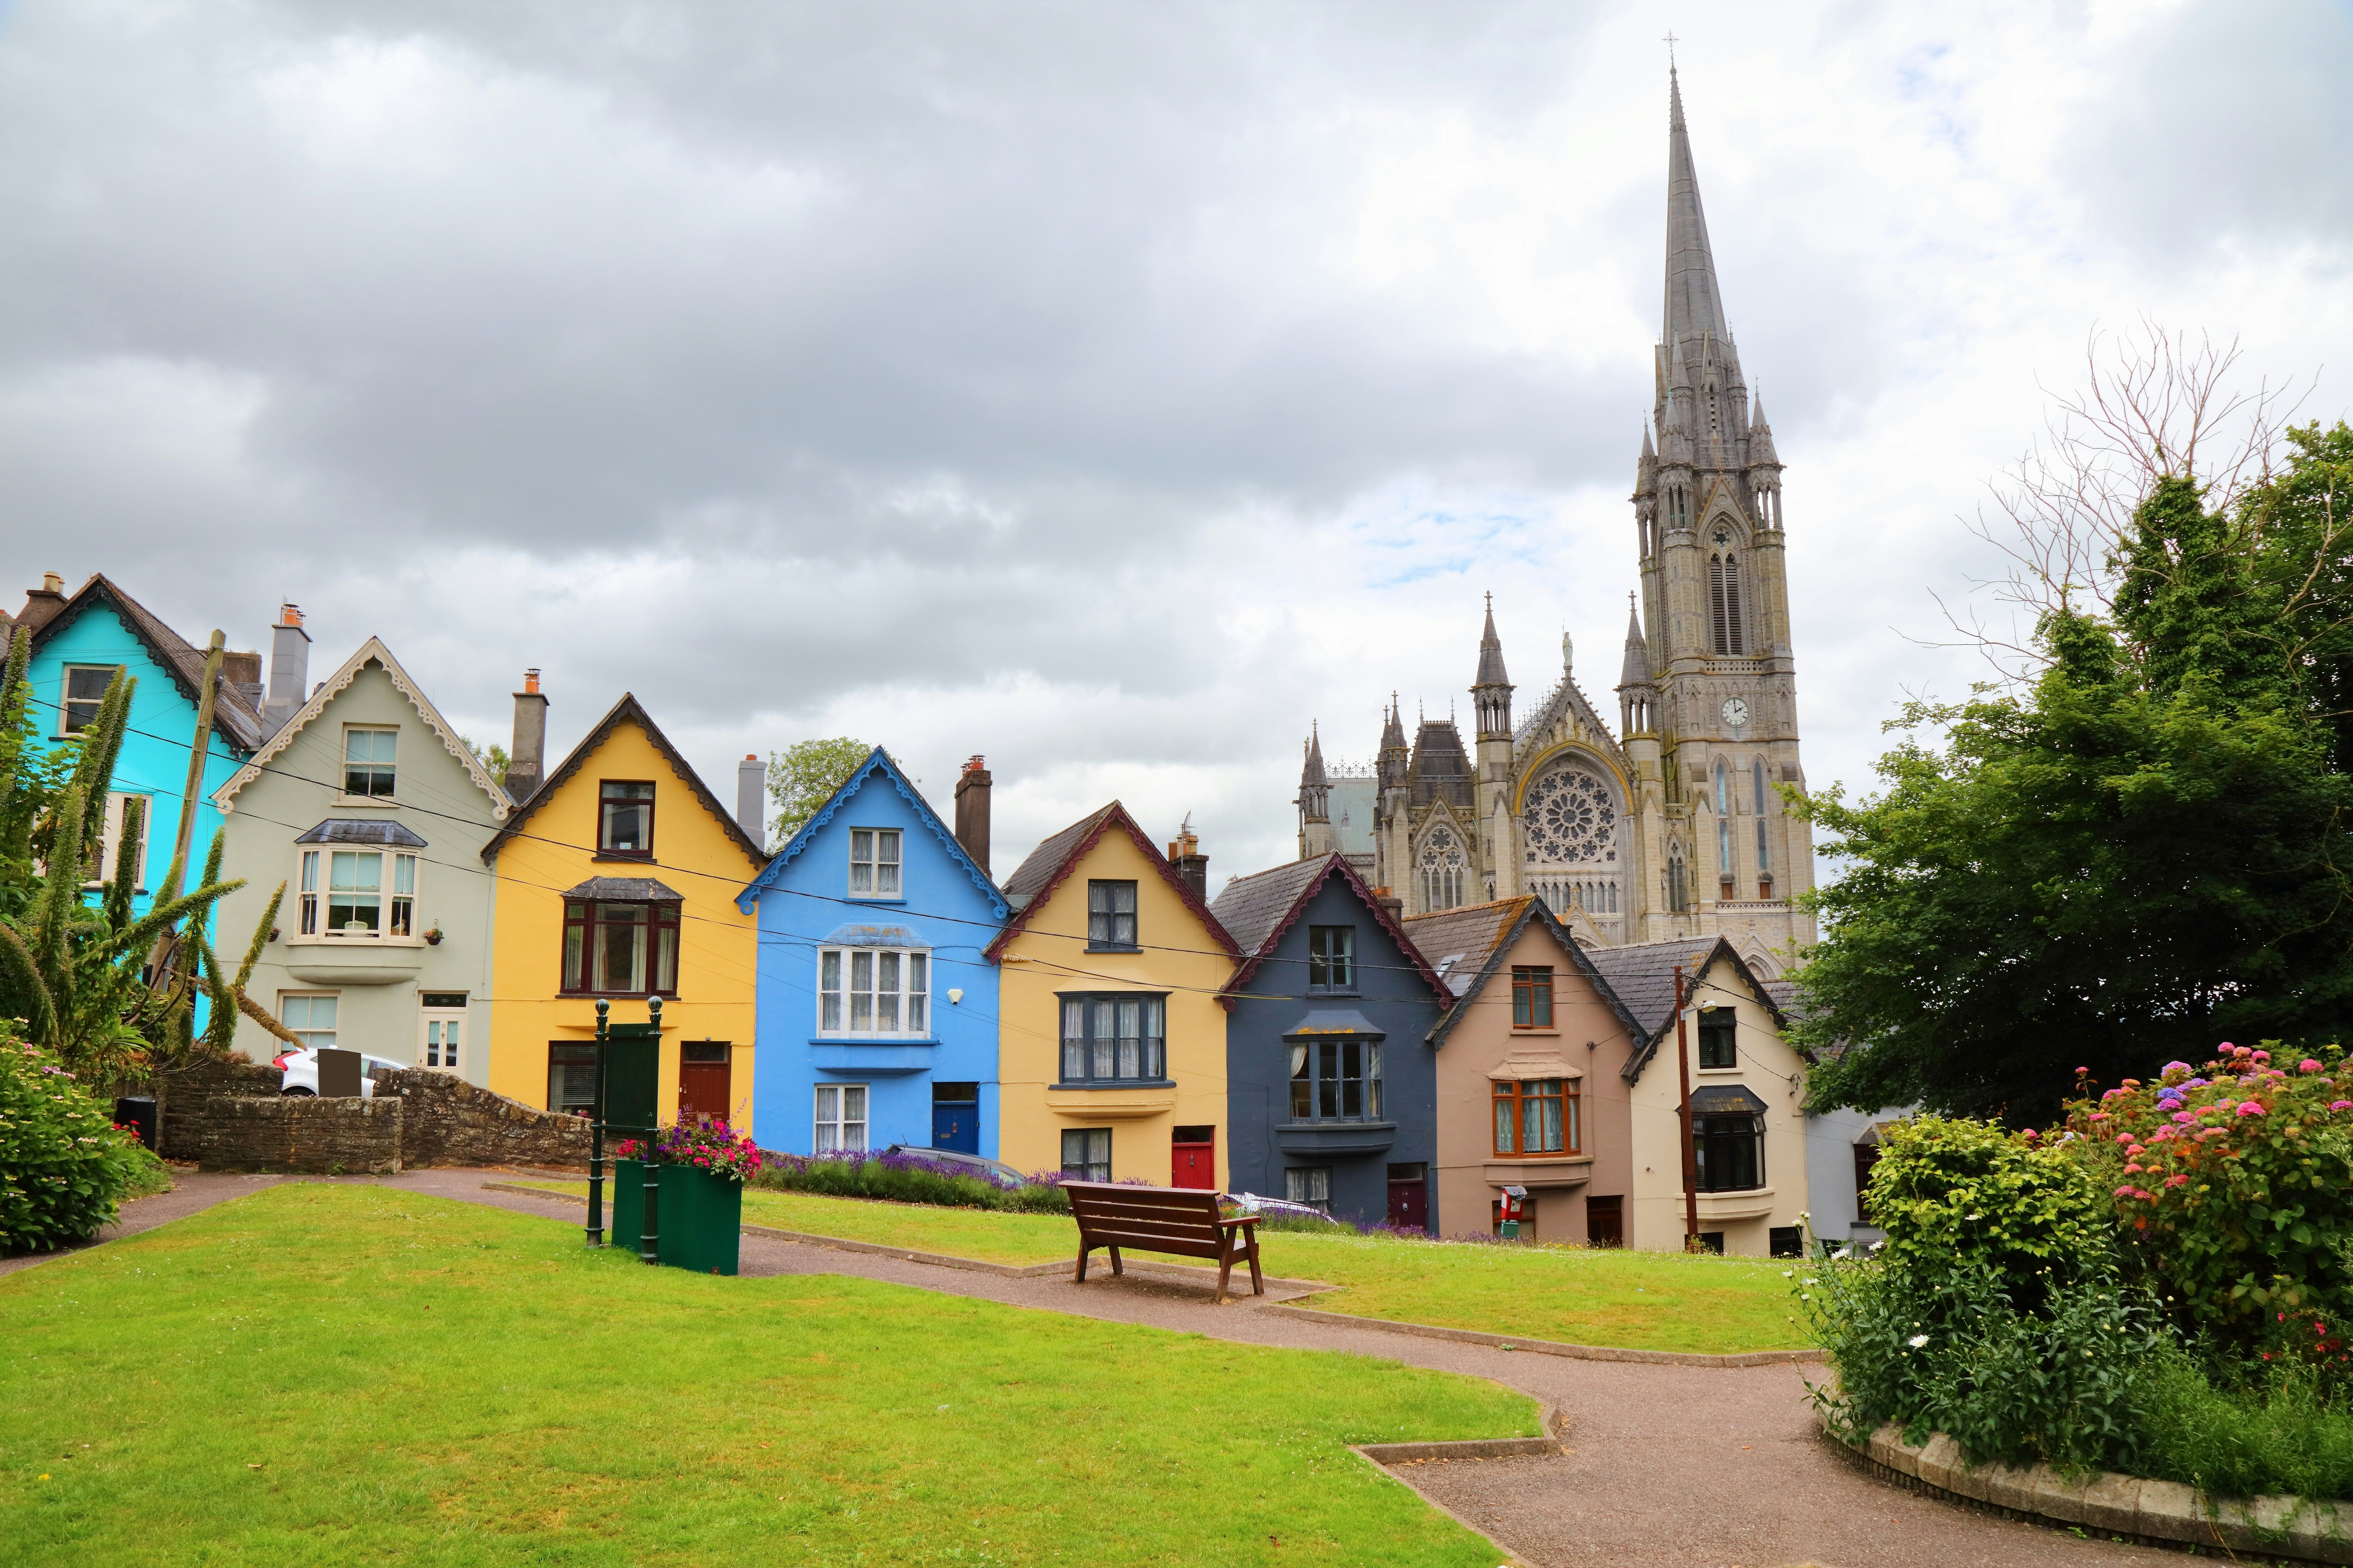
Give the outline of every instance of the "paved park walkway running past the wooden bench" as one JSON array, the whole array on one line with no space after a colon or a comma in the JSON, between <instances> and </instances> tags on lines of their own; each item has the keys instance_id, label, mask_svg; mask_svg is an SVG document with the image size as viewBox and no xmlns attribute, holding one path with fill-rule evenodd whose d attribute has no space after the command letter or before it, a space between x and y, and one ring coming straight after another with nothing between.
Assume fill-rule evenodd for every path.
<instances>
[{"instance_id":1,"label":"paved park walkway running past the wooden bench","mask_svg":"<svg viewBox=\"0 0 2353 1568\"><path fill-rule=\"evenodd\" d=\"M273 1178L181 1178L181 1192L125 1206L120 1234L148 1229ZM351 1178L344 1178L351 1180ZM485 1192L482 1171L381 1178L412 1192L579 1225L581 1208ZM172 1213L148 1206L172 1204ZM155 1215L155 1218L151 1218ZM5 1269L9 1265L0 1265ZM1854 1469L1814 1429L1802 1373L1819 1368L1569 1361L1339 1328L1217 1307L1139 1276L1089 1284L1000 1279L873 1253L744 1237L744 1274L854 1274L1014 1307L1148 1324L1245 1345L1344 1349L1492 1378L1560 1408L1560 1458L1454 1460L1398 1469L1431 1502L1541 1568L2082 1568L2172 1566L2181 1554L2082 1540L1899 1490ZM1247 1298L1242 1298L1247 1300Z\"/></svg>"}]
</instances>

